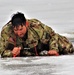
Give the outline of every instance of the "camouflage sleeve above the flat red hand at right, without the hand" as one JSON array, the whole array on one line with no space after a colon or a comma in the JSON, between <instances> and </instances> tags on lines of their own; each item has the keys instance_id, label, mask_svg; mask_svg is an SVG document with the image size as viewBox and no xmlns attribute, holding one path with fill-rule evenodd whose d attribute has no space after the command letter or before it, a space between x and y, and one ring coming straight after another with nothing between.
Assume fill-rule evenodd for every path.
<instances>
[{"instance_id":1,"label":"camouflage sleeve above the flat red hand at right, without the hand","mask_svg":"<svg viewBox=\"0 0 74 75\"><path fill-rule=\"evenodd\" d=\"M58 49L58 36L57 34L54 32L54 30L49 27L46 26L45 30L47 31L47 33L50 35L50 39L49 39L49 49L50 50L56 50L57 52L59 52Z\"/></svg>"}]
</instances>

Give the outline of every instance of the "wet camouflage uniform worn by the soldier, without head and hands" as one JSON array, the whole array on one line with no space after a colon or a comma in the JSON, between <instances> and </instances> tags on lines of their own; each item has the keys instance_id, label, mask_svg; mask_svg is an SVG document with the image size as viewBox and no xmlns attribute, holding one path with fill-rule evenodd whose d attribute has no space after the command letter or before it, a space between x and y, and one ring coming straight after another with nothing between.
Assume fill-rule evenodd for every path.
<instances>
[{"instance_id":1,"label":"wet camouflage uniform worn by the soldier, without head and hands","mask_svg":"<svg viewBox=\"0 0 74 75\"><path fill-rule=\"evenodd\" d=\"M1 31L0 53L2 57L12 57L14 47L21 46L20 56L40 55L42 51L57 50L59 54L73 53L73 45L64 36L37 19L28 19L28 31L23 38L16 36L11 21ZM46 55L46 54L45 54Z\"/></svg>"}]
</instances>

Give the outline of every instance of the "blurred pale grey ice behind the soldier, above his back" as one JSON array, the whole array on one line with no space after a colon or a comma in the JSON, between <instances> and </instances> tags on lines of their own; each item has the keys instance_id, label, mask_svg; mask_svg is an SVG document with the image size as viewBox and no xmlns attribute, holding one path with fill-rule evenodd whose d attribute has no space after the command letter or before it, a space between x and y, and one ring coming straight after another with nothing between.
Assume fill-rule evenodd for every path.
<instances>
[{"instance_id":1,"label":"blurred pale grey ice behind the soldier, above his back","mask_svg":"<svg viewBox=\"0 0 74 75\"><path fill-rule=\"evenodd\" d=\"M57 33L74 37L74 0L0 0L0 30L16 12L39 19Z\"/></svg>"}]
</instances>

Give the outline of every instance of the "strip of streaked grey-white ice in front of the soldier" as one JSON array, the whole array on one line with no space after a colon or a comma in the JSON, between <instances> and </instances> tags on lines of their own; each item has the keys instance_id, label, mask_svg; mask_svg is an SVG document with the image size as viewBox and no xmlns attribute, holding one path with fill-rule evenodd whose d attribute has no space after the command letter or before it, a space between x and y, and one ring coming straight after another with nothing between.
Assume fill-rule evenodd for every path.
<instances>
[{"instance_id":1,"label":"strip of streaked grey-white ice in front of the soldier","mask_svg":"<svg viewBox=\"0 0 74 75\"><path fill-rule=\"evenodd\" d=\"M74 55L1 58L0 75L74 75Z\"/></svg>"}]
</instances>

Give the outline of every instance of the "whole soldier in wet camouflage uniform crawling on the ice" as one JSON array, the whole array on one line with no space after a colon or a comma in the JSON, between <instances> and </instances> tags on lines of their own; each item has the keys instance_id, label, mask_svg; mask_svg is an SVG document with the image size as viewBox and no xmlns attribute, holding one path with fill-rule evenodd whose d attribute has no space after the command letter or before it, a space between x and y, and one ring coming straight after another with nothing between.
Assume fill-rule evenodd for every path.
<instances>
[{"instance_id":1,"label":"whole soldier in wet camouflage uniform crawling on the ice","mask_svg":"<svg viewBox=\"0 0 74 75\"><path fill-rule=\"evenodd\" d=\"M74 52L72 43L37 19L17 12L1 31L1 57L56 56Z\"/></svg>"}]
</instances>

